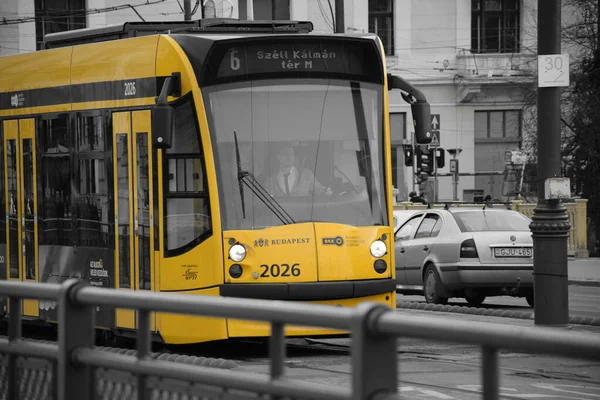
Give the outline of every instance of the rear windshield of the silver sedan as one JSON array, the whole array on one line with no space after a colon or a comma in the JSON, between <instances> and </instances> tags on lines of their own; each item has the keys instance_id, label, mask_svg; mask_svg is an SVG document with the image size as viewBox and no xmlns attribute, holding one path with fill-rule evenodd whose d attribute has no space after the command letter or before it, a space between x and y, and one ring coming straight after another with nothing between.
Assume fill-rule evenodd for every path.
<instances>
[{"instance_id":1,"label":"rear windshield of the silver sedan","mask_svg":"<svg viewBox=\"0 0 600 400\"><path fill-rule=\"evenodd\" d=\"M452 216L462 232L529 231L531 222L517 211L461 211Z\"/></svg>"}]
</instances>

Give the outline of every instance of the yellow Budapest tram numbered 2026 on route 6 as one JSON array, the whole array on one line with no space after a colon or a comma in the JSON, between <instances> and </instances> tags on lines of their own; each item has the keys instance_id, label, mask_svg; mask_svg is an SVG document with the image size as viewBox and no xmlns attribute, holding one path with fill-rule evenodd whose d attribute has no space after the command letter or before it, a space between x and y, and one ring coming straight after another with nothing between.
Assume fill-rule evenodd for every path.
<instances>
[{"instance_id":1,"label":"yellow Budapest tram numbered 2026 on route 6","mask_svg":"<svg viewBox=\"0 0 600 400\"><path fill-rule=\"evenodd\" d=\"M419 137L429 105L388 81L377 37L291 21L159 28L48 35L47 50L0 58L0 279L394 307L388 86L407 93ZM23 313L57 319L34 300ZM97 323L131 334L135 312L98 309ZM170 314L152 330L166 343L269 335Z\"/></svg>"}]
</instances>

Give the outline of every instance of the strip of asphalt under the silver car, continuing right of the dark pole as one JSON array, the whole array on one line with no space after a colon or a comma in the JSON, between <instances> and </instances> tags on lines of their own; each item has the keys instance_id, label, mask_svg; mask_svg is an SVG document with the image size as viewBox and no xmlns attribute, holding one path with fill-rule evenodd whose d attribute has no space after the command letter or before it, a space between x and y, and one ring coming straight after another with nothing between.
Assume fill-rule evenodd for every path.
<instances>
[{"instance_id":1,"label":"strip of asphalt under the silver car, continuing right of the dark pole","mask_svg":"<svg viewBox=\"0 0 600 400\"><path fill-rule=\"evenodd\" d=\"M406 296L398 294L397 301L424 303L425 298L418 295ZM452 298L448 301L448 304L458 306L468 305L466 300L462 298ZM482 307L498 310L532 311L525 298L510 296L488 297L485 299ZM600 287L569 285L569 315L571 317L600 318Z\"/></svg>"}]
</instances>

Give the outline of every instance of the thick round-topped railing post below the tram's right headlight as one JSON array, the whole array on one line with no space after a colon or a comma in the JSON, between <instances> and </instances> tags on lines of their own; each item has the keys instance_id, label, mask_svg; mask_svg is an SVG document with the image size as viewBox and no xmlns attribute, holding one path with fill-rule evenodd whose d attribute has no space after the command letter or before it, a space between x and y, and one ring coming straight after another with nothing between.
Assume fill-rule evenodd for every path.
<instances>
[{"instance_id":1,"label":"thick round-topped railing post below the tram's right headlight","mask_svg":"<svg viewBox=\"0 0 600 400\"><path fill-rule=\"evenodd\" d=\"M377 334L377 318L391 309L365 302L355 307L352 334L352 398L370 400L398 391L396 337Z\"/></svg>"}]
</instances>

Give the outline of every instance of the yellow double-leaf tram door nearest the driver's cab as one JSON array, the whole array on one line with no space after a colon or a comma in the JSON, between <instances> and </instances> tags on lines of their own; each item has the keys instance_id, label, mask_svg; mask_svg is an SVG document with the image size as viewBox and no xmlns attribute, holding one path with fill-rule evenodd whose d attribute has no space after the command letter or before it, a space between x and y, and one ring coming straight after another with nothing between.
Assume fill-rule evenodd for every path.
<instances>
[{"instance_id":1,"label":"yellow double-leaf tram door nearest the driver's cab","mask_svg":"<svg viewBox=\"0 0 600 400\"><path fill-rule=\"evenodd\" d=\"M113 113L115 281L129 290L154 289L151 112ZM152 314L151 328L156 329ZM133 310L117 309L116 326L136 328Z\"/></svg>"}]
</instances>

